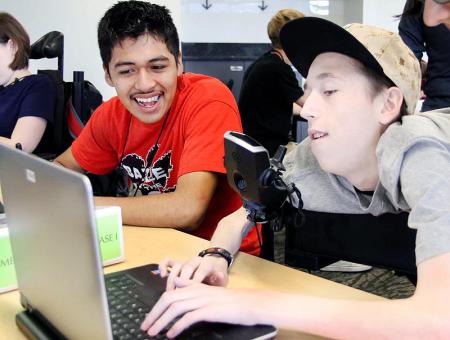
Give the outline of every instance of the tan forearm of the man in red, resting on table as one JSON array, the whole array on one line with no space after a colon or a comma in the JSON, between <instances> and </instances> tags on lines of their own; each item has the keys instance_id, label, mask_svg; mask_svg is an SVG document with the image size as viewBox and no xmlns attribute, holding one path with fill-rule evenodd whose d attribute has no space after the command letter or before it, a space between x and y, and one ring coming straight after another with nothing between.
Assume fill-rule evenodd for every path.
<instances>
[{"instance_id":1,"label":"tan forearm of the man in red, resting on table","mask_svg":"<svg viewBox=\"0 0 450 340\"><path fill-rule=\"evenodd\" d=\"M192 201L180 198L175 192L138 197L95 197L95 204L120 206L124 224L142 227L191 231L203 218Z\"/></svg>"}]
</instances>

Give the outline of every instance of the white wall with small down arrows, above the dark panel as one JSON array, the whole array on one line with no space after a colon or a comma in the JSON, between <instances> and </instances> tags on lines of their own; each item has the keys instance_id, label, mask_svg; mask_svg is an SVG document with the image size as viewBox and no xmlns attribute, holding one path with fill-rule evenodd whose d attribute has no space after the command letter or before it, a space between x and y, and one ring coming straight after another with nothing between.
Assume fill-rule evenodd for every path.
<instances>
[{"instance_id":1,"label":"white wall with small down arrows, above the dark panel","mask_svg":"<svg viewBox=\"0 0 450 340\"><path fill-rule=\"evenodd\" d=\"M347 2L352 3L351 9L345 8ZM294 8L307 16L320 16L341 25L347 20L362 19L361 0L322 1L328 3L321 8L329 9L329 15L314 13L317 7L309 0L266 0L264 4L268 7L264 11L258 7L262 4L260 0L209 0L212 6L208 10L202 7L204 3L205 0L181 0L183 42L269 42L267 23L283 8Z\"/></svg>"}]
</instances>

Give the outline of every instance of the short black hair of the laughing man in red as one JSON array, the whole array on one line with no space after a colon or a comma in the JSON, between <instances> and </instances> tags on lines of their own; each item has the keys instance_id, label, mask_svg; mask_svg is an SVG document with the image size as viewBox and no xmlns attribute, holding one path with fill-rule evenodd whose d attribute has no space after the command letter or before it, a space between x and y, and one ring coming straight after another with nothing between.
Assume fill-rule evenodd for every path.
<instances>
[{"instance_id":1,"label":"short black hair of the laughing man in red","mask_svg":"<svg viewBox=\"0 0 450 340\"><path fill-rule=\"evenodd\" d=\"M127 38L150 34L163 41L178 60L180 42L169 10L145 1L119 1L108 9L98 24L98 46L108 70L113 48Z\"/></svg>"}]
</instances>

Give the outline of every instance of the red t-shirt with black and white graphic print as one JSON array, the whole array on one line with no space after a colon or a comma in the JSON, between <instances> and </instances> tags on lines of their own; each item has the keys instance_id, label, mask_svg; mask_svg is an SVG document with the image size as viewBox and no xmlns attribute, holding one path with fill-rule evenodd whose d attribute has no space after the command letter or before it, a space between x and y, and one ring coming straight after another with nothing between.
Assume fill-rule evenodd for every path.
<instances>
[{"instance_id":1,"label":"red t-shirt with black and white graphic print","mask_svg":"<svg viewBox=\"0 0 450 340\"><path fill-rule=\"evenodd\" d=\"M83 169L94 174L112 171L122 158L130 181L143 195L174 191L178 178L189 172L219 173L219 185L205 219L193 232L209 240L219 220L242 205L227 183L223 164L224 133L242 131L238 108L220 81L187 73L178 77L168 115L164 127L166 116L157 123L144 124L114 97L94 112L73 142L72 153ZM151 161L160 133L159 148ZM256 230L243 240L241 250L259 253Z\"/></svg>"}]
</instances>

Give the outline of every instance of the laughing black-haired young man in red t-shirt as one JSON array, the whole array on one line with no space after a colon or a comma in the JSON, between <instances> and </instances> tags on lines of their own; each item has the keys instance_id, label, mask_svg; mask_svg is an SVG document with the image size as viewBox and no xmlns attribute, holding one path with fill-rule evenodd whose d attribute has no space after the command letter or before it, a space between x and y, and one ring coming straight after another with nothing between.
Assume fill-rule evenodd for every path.
<instances>
[{"instance_id":1,"label":"laughing black-haired young man in red t-shirt","mask_svg":"<svg viewBox=\"0 0 450 340\"><path fill-rule=\"evenodd\" d=\"M182 74L177 30L163 6L117 3L101 19L98 41L117 97L56 162L94 174L121 166L131 197L96 197L96 204L120 206L126 224L210 239L241 205L223 165L224 133L242 130L231 92L214 78ZM256 240L250 235L241 249L258 253Z\"/></svg>"}]
</instances>

